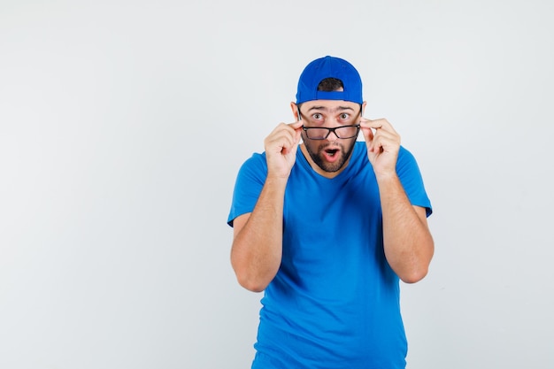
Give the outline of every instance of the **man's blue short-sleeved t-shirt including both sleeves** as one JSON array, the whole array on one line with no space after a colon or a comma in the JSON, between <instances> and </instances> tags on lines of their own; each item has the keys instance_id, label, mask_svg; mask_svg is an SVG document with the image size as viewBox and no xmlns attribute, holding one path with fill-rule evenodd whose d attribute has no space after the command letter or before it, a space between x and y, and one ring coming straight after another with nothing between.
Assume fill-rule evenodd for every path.
<instances>
[{"instance_id":1,"label":"man's blue short-sleeved t-shirt including both sleeves","mask_svg":"<svg viewBox=\"0 0 554 369\"><path fill-rule=\"evenodd\" d=\"M414 205L427 197L412 154L396 173ZM241 167L227 219L254 210L265 153ZM404 368L407 352L399 280L382 245L379 188L365 142L335 178L315 171L298 148L285 192L281 267L261 300L252 368Z\"/></svg>"}]
</instances>

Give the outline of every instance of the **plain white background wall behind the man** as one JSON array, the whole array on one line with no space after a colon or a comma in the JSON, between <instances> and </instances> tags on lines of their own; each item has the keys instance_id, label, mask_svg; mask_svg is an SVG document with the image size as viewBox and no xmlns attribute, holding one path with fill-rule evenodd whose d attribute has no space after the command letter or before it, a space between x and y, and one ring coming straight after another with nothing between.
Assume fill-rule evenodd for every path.
<instances>
[{"instance_id":1,"label":"plain white background wall behind the man","mask_svg":"<svg viewBox=\"0 0 554 369\"><path fill-rule=\"evenodd\" d=\"M554 367L554 3L0 0L0 367L248 368L235 175L314 58L416 156L410 369Z\"/></svg>"}]
</instances>

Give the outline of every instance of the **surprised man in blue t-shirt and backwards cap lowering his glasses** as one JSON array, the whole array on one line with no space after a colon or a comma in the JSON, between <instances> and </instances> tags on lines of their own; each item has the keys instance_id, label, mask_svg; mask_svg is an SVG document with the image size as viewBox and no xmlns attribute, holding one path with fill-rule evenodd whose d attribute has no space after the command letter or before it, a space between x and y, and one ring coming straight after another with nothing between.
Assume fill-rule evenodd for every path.
<instances>
[{"instance_id":1,"label":"surprised man in blue t-shirt and backwards cap lowering his glasses","mask_svg":"<svg viewBox=\"0 0 554 369\"><path fill-rule=\"evenodd\" d=\"M265 291L252 368L405 367L399 280L427 274L431 204L412 154L365 104L353 65L312 61L296 122L238 173L231 263L242 287Z\"/></svg>"}]
</instances>

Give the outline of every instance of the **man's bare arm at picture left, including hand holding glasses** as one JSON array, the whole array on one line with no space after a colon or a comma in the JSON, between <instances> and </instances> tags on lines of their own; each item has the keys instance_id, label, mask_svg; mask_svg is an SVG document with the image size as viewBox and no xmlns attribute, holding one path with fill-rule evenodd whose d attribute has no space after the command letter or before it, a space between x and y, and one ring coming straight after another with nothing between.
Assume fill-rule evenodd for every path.
<instances>
[{"instance_id":1,"label":"man's bare arm at picture left, including hand holding glasses","mask_svg":"<svg viewBox=\"0 0 554 369\"><path fill-rule=\"evenodd\" d=\"M254 210L233 222L231 265L242 287L264 290L279 270L285 188L296 161L302 122L281 124L265 139L267 177Z\"/></svg>"}]
</instances>

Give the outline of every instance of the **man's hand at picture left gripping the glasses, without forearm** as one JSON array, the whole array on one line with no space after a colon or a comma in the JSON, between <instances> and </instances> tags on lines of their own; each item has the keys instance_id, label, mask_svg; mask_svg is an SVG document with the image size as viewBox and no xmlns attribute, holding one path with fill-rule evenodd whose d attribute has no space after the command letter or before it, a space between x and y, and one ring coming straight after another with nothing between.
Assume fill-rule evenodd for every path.
<instances>
[{"instance_id":1,"label":"man's hand at picture left gripping the glasses, without forearm","mask_svg":"<svg viewBox=\"0 0 554 369\"><path fill-rule=\"evenodd\" d=\"M289 179L290 171L296 161L302 125L302 120L290 124L281 123L265 137L267 177Z\"/></svg>"}]
</instances>

